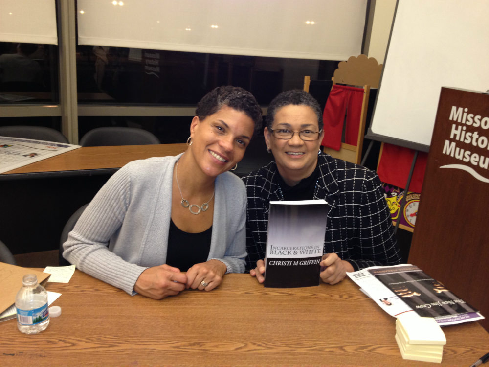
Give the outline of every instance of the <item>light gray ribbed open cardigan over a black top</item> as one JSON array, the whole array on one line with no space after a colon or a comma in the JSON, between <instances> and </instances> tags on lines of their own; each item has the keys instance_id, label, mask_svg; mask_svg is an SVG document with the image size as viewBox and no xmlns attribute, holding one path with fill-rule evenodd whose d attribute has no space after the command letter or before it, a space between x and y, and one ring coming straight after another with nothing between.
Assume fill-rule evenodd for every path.
<instances>
[{"instance_id":1,"label":"light gray ribbed open cardigan over a black top","mask_svg":"<svg viewBox=\"0 0 489 367\"><path fill-rule=\"evenodd\" d=\"M133 294L139 275L166 262L176 157L126 164L107 181L68 234L63 256L76 267ZM246 192L241 179L216 178L208 259L243 273ZM185 271L186 269L181 269Z\"/></svg>"}]
</instances>

